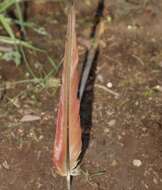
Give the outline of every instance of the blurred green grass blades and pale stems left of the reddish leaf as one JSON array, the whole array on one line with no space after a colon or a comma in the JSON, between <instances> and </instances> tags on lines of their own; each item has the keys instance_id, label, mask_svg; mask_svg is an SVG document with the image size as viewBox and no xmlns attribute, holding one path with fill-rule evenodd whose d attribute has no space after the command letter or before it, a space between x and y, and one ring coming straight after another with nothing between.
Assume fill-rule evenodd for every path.
<instances>
[{"instance_id":1,"label":"blurred green grass blades and pale stems left of the reddish leaf","mask_svg":"<svg viewBox=\"0 0 162 190\"><path fill-rule=\"evenodd\" d=\"M60 68L45 50L39 49L29 41L26 28L34 30L37 34L48 35L44 28L24 19L25 4L21 0L0 0L0 59L13 61L16 66L21 63L26 65L25 79L21 81L7 82L7 88L13 85L32 83L39 86L39 90L53 88L59 85L59 81L53 78ZM46 60L51 65L48 73L34 73L28 63L24 52L25 49L38 51L46 56ZM36 63L34 63L36 64ZM26 79L27 77L27 79Z\"/></svg>"}]
</instances>

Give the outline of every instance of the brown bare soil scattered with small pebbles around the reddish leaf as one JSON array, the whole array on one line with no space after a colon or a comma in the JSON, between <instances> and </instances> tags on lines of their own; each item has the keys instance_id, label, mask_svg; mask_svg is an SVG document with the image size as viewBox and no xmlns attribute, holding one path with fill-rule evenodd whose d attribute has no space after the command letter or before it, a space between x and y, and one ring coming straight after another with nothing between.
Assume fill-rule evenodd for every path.
<instances>
[{"instance_id":1,"label":"brown bare soil scattered with small pebbles around the reddish leaf","mask_svg":"<svg viewBox=\"0 0 162 190\"><path fill-rule=\"evenodd\" d=\"M81 113L90 132L81 167L89 176L74 177L72 189L161 190L162 2L105 0L103 5L105 30ZM97 0L78 3L78 37L89 39L97 6ZM29 29L29 39L59 62L64 52L65 3L31 2L28 15L48 32L40 36ZM79 53L82 62L81 45ZM33 70L36 63L43 71L51 69L46 55L28 54ZM0 61L0 80L22 80L25 73L24 65ZM0 190L66 189L65 179L52 164L56 89L40 93L33 84L21 84L7 89L0 100ZM27 114L40 119L21 122Z\"/></svg>"}]
</instances>

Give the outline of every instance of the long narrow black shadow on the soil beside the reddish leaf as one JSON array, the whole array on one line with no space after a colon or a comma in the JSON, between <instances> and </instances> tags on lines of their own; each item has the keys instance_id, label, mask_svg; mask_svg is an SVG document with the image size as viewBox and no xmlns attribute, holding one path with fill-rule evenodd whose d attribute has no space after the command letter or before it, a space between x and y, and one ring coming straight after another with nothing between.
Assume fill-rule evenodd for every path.
<instances>
[{"instance_id":1,"label":"long narrow black shadow on the soil beside the reddish leaf","mask_svg":"<svg viewBox=\"0 0 162 190\"><path fill-rule=\"evenodd\" d=\"M99 0L98 7L96 10L96 15L94 18L94 25L92 28L92 32L90 34L90 38L93 39L96 34L96 29L98 24L101 21L101 18L103 17L103 11L104 11L104 0ZM88 76L88 80L86 82L83 97L81 99L81 108L80 108L80 115L81 115L81 126L82 126L82 154L81 154L81 160L85 155L85 152L89 146L90 142L90 131L92 128L92 109L93 109L93 99L94 99L94 82L96 78L96 68L98 63L98 56L99 56L99 48L96 49L95 55L93 57L92 66L90 69L90 73ZM87 59L89 56L90 50L88 50L85 54L85 59L83 63L83 69L82 69L82 75L83 71L85 69L85 66L87 64ZM81 77L82 78L82 77Z\"/></svg>"}]
</instances>

